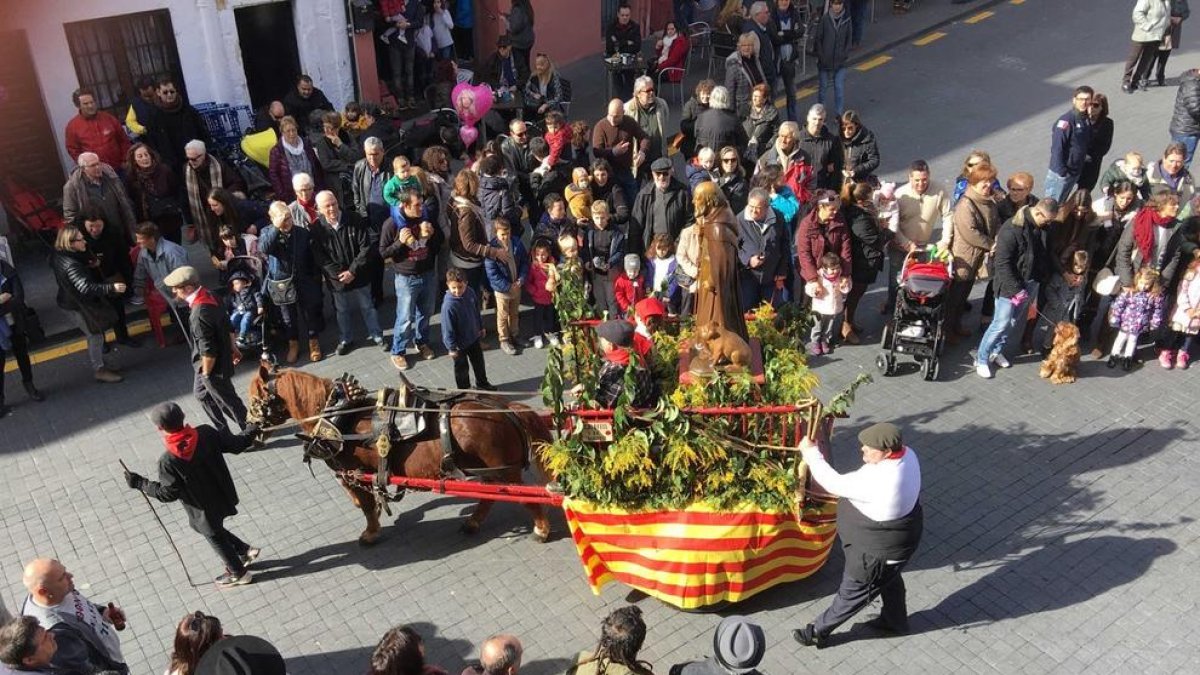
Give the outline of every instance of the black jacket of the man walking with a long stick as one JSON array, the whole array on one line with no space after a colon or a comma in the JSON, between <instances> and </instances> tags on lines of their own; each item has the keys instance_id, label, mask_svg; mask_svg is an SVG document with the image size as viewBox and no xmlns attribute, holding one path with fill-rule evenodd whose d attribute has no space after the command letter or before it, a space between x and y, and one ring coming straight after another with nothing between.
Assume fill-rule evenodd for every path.
<instances>
[{"instance_id":1,"label":"black jacket of the man walking with a long stick","mask_svg":"<svg viewBox=\"0 0 1200 675\"><path fill-rule=\"evenodd\" d=\"M142 491L160 502L182 502L192 530L208 536L222 520L238 514L238 489L223 454L241 453L252 438L208 424L197 426L196 434L194 443L180 450L188 459L163 453L158 458L158 480L146 483Z\"/></svg>"}]
</instances>

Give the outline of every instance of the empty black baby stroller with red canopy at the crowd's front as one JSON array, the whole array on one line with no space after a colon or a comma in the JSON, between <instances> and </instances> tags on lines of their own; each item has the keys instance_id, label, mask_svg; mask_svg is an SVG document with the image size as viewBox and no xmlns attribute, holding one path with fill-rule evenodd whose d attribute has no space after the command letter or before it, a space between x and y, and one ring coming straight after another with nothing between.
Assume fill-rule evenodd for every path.
<instances>
[{"instance_id":1,"label":"empty black baby stroller with red canopy at the crowd's front","mask_svg":"<svg viewBox=\"0 0 1200 675\"><path fill-rule=\"evenodd\" d=\"M875 365L883 375L894 375L896 354L920 363L922 376L937 380L937 358L946 344L946 297L950 288L950 261L936 249L913 251L900 271L900 293L892 319L883 327Z\"/></svg>"}]
</instances>

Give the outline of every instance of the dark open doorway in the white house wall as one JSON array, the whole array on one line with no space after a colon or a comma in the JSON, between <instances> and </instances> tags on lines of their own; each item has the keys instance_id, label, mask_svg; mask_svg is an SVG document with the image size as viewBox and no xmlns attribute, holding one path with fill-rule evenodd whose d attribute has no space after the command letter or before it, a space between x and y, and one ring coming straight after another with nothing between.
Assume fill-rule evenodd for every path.
<instances>
[{"instance_id":1,"label":"dark open doorway in the white house wall","mask_svg":"<svg viewBox=\"0 0 1200 675\"><path fill-rule=\"evenodd\" d=\"M300 74L300 50L292 2L268 2L234 10L241 65L250 103L258 109L283 98Z\"/></svg>"}]
</instances>

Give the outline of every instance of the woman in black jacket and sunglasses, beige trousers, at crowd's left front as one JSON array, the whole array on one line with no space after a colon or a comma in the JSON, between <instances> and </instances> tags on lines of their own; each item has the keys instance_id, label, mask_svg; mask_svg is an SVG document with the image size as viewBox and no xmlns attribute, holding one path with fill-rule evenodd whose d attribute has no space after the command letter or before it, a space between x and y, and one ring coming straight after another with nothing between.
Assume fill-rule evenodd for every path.
<instances>
[{"instance_id":1,"label":"woman in black jacket and sunglasses, beige trousers, at crowd's left front","mask_svg":"<svg viewBox=\"0 0 1200 675\"><path fill-rule=\"evenodd\" d=\"M113 354L104 353L104 331L116 324L116 311L109 299L124 294L125 283L104 281L100 261L88 250L83 232L73 225L59 231L50 267L59 285L55 299L83 331L96 381L120 382L124 378L116 372Z\"/></svg>"}]
</instances>

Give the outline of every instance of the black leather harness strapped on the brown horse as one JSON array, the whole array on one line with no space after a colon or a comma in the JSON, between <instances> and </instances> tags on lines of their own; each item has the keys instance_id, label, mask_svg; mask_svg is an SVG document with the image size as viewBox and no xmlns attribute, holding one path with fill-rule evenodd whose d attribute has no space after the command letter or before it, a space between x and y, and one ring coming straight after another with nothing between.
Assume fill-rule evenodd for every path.
<instances>
[{"instance_id":1,"label":"black leather harness strapped on the brown horse","mask_svg":"<svg viewBox=\"0 0 1200 675\"><path fill-rule=\"evenodd\" d=\"M529 436L515 412L502 404L490 401L472 394L440 393L413 387L401 378L401 387L384 387L373 395L364 389L358 381L347 374L334 381L334 387L325 399L320 418L317 419L311 434L296 434L304 441L304 461L312 470L312 460L330 462L338 453L355 444L373 447L377 465L373 490L380 498L384 510L391 515L388 502L400 501L404 496L403 488L395 494L389 491L391 466L403 465L416 443L433 440L434 435L442 446L440 479L446 480L484 480L491 474L516 468L516 466L493 466L482 468L461 468L457 460L466 456L450 430L452 408L460 402L473 402L482 408L504 411L502 417L514 425L522 437L527 449L521 468L529 464ZM268 383L268 398L277 399L275 381ZM372 401L373 398L373 401ZM364 408L373 407L371 412L372 428L367 432L356 432ZM430 418L437 414L437 430L431 429ZM401 448L395 454L395 448ZM337 467L334 467L335 471Z\"/></svg>"}]
</instances>

